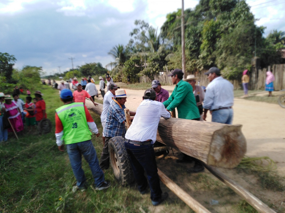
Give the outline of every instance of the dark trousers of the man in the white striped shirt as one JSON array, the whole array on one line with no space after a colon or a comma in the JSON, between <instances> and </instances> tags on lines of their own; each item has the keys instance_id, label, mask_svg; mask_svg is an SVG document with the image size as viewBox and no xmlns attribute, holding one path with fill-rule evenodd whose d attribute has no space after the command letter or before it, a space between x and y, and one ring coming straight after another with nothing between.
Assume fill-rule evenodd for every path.
<instances>
[{"instance_id":1,"label":"dark trousers of the man in the white striped shirt","mask_svg":"<svg viewBox=\"0 0 285 213\"><path fill-rule=\"evenodd\" d=\"M152 201L160 201L162 191L160 189L159 177L157 174L153 144L134 145L132 143L125 142L125 148L129 155L129 160L139 191L143 192L146 190L148 179L150 199ZM144 176L144 171L146 171L147 179Z\"/></svg>"}]
</instances>

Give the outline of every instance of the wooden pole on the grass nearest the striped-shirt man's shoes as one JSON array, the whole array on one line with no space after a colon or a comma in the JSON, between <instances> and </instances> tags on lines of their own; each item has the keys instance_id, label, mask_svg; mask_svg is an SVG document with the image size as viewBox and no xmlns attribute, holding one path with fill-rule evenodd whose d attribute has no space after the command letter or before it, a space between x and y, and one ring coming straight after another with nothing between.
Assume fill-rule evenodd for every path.
<instances>
[{"instance_id":1,"label":"wooden pole on the grass nearest the striped-shirt man's shoes","mask_svg":"<svg viewBox=\"0 0 285 213\"><path fill-rule=\"evenodd\" d=\"M198 201L181 189L176 183L174 183L170 178L168 178L160 169L157 169L158 176L164 185L168 187L177 197L179 197L183 202L185 202L190 208L192 208L197 213L210 213L204 206L202 206Z\"/></svg>"}]
</instances>

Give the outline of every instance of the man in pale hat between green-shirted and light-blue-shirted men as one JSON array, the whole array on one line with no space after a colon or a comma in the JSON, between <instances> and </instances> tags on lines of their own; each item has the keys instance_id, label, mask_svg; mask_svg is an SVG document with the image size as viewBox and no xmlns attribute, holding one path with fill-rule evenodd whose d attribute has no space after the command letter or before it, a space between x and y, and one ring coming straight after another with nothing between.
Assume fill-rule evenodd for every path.
<instances>
[{"instance_id":1,"label":"man in pale hat between green-shirted and light-blue-shirted men","mask_svg":"<svg viewBox=\"0 0 285 213\"><path fill-rule=\"evenodd\" d=\"M187 78L184 79L184 81L187 81L188 83L190 83L190 85L193 88L193 94L196 98L197 106L198 106L199 113L200 113L200 121L203 121L203 105L202 105L202 102L203 102L204 97L205 97L205 91L202 87L195 85L197 79L198 79L198 77L195 77L194 75L188 75Z\"/></svg>"}]
</instances>

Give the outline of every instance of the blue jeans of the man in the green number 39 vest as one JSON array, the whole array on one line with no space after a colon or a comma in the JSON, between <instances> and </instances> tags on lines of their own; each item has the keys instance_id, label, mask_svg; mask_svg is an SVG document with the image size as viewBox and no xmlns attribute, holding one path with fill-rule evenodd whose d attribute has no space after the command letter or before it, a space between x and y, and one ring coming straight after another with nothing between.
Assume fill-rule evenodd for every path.
<instances>
[{"instance_id":1,"label":"blue jeans of the man in the green number 39 vest","mask_svg":"<svg viewBox=\"0 0 285 213\"><path fill-rule=\"evenodd\" d=\"M84 171L81 167L81 155L84 156L85 160L89 164L95 181L94 184L96 185L96 187L100 187L105 181L104 173L99 167L97 154L91 140L67 144L66 151L69 156L73 174L77 180L76 185L78 186L78 188L83 188L86 181Z\"/></svg>"}]
</instances>

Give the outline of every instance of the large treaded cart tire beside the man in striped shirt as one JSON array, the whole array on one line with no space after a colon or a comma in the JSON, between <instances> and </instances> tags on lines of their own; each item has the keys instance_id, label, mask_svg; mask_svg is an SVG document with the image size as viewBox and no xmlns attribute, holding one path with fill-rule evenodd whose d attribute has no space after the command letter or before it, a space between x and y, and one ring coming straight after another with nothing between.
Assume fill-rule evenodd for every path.
<instances>
[{"instance_id":1,"label":"large treaded cart tire beside the man in striped shirt","mask_svg":"<svg viewBox=\"0 0 285 213\"><path fill-rule=\"evenodd\" d=\"M109 156L114 175L121 185L134 182L134 174L125 149L123 137L113 137L109 140Z\"/></svg>"}]
</instances>

